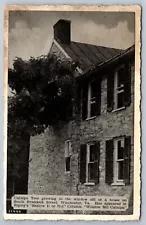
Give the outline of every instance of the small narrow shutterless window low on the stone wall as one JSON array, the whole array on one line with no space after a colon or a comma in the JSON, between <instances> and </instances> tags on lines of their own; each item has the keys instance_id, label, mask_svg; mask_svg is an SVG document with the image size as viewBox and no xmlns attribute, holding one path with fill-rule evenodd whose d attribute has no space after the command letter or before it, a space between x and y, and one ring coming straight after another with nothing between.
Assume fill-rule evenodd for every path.
<instances>
[{"instance_id":1,"label":"small narrow shutterless window low on the stone wall","mask_svg":"<svg viewBox=\"0 0 146 225\"><path fill-rule=\"evenodd\" d=\"M70 158L72 154L71 141L65 142L65 172L70 172Z\"/></svg>"}]
</instances>

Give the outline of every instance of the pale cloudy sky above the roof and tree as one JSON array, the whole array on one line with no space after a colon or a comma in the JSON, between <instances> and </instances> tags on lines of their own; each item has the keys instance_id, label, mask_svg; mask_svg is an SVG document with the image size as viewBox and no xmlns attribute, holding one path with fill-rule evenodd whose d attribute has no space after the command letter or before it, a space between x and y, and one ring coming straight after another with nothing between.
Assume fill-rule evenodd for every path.
<instances>
[{"instance_id":1,"label":"pale cloudy sky above the roof and tree","mask_svg":"<svg viewBox=\"0 0 146 225\"><path fill-rule=\"evenodd\" d=\"M71 21L71 40L126 49L134 44L135 15L130 12L12 11L9 15L9 67L15 57L29 59L47 54L53 25Z\"/></svg>"}]
</instances>

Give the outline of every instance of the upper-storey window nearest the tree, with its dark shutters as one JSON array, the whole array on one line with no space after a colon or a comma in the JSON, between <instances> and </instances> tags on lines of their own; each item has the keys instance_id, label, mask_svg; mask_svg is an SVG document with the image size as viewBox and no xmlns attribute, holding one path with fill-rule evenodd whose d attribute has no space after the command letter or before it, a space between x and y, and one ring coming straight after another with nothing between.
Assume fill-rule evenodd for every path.
<instances>
[{"instance_id":1,"label":"upper-storey window nearest the tree, with its dark shutters","mask_svg":"<svg viewBox=\"0 0 146 225\"><path fill-rule=\"evenodd\" d=\"M101 81L100 78L85 82L82 89L83 120L100 115Z\"/></svg>"}]
</instances>

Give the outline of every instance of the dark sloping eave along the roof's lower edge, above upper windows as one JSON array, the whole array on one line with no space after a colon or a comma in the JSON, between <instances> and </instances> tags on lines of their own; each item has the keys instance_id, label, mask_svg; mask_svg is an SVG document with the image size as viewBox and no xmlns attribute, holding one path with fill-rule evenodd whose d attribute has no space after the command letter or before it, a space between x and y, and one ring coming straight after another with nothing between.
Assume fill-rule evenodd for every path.
<instances>
[{"instance_id":1,"label":"dark sloping eave along the roof's lower edge, above upper windows","mask_svg":"<svg viewBox=\"0 0 146 225\"><path fill-rule=\"evenodd\" d=\"M126 55L133 54L134 52L135 52L135 45L132 45L129 48L127 48L126 50L124 50L123 52L119 53L118 55L106 60L105 62L95 65L90 70L86 71L83 75L85 75L85 74L87 75L87 74L96 72L99 68L101 69L103 66L108 66L108 65L118 61L119 59L125 57Z\"/></svg>"}]
</instances>

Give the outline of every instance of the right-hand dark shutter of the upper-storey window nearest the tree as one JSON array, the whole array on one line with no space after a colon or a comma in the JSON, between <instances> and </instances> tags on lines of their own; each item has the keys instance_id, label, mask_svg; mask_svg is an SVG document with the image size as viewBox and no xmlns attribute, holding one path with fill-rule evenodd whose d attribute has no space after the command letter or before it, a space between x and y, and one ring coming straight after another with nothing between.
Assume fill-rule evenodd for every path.
<instances>
[{"instance_id":1,"label":"right-hand dark shutter of the upper-storey window nearest the tree","mask_svg":"<svg viewBox=\"0 0 146 225\"><path fill-rule=\"evenodd\" d=\"M96 79L96 87L97 87L97 92L96 92L96 116L99 116L100 112L101 112L101 79L100 78Z\"/></svg>"}]
</instances>

